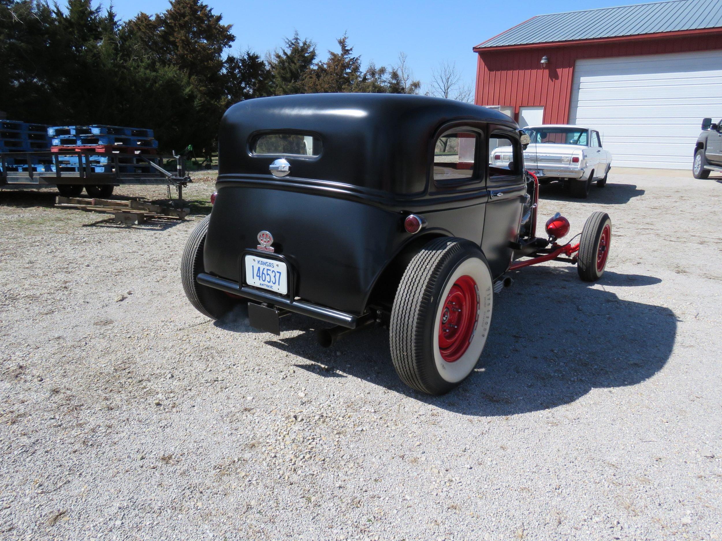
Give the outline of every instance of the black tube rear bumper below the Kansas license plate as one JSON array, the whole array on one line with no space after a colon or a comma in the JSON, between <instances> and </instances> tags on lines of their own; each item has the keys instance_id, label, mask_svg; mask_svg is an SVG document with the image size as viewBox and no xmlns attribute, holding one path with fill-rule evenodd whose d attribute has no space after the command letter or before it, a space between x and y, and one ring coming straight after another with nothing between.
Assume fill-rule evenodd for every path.
<instances>
[{"instance_id":1,"label":"black tube rear bumper below the Kansas license plate","mask_svg":"<svg viewBox=\"0 0 722 541\"><path fill-rule=\"evenodd\" d=\"M273 304L276 307L287 309L290 312L296 312L297 314L309 317L316 317L317 320L333 323L334 325L341 325L342 327L355 329L358 324L358 316L347 314L346 312L340 312L339 310L331 308L317 306L316 304L310 304L310 302L292 300L287 297L266 293L266 291L261 291L260 289L240 286L238 283L226 280L225 278L217 278L216 276L211 276L210 274L201 273L198 275L196 280L203 286L220 289L221 291L226 291L227 293L234 295L245 296L246 299L251 299L256 302Z\"/></svg>"}]
</instances>

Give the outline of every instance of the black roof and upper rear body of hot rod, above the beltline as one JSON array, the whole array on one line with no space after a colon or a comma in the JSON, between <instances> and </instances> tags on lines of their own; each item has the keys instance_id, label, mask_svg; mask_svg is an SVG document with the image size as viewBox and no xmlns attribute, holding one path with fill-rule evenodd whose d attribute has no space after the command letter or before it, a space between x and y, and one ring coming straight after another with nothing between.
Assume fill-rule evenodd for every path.
<instances>
[{"instance_id":1,"label":"black roof and upper rear body of hot rod, above the beltline","mask_svg":"<svg viewBox=\"0 0 722 541\"><path fill-rule=\"evenodd\" d=\"M318 136L318 157L284 156L297 175L385 192L427 190L432 141L441 130L489 123L495 131L518 124L471 103L410 94L295 94L245 100L230 107L218 136L219 175L269 175L280 155L251 151L261 133ZM285 182L285 181L278 181Z\"/></svg>"}]
</instances>

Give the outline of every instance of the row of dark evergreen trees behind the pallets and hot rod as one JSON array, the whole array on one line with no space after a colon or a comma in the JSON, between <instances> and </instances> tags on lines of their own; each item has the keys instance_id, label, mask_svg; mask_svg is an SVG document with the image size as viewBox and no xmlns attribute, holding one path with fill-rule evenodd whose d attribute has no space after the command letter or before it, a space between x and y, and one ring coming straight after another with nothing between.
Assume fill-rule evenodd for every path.
<instances>
[{"instance_id":1,"label":"row of dark evergreen trees behind the pallets and hot rod","mask_svg":"<svg viewBox=\"0 0 722 541\"><path fill-rule=\"evenodd\" d=\"M161 14L120 23L113 9L69 0L0 0L0 109L54 125L152 128L163 151L212 151L234 102L302 92L418 91L399 66L362 71L347 36L316 63L316 44L297 34L264 61L226 56L230 25L200 0L173 0Z\"/></svg>"}]
</instances>

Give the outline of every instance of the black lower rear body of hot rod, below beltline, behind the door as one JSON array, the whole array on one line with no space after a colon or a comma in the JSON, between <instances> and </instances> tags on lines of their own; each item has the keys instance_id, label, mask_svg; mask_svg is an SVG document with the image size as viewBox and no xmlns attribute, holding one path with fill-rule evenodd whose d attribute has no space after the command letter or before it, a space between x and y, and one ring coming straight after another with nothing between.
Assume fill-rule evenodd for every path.
<instances>
[{"instance_id":1,"label":"black lower rear body of hot rod, below beltline, behind the door","mask_svg":"<svg viewBox=\"0 0 722 541\"><path fill-rule=\"evenodd\" d=\"M483 203L430 211L425 234L482 240ZM376 278L414 236L406 214L360 201L269 190L243 181L219 184L204 247L206 272L239 282L240 255L269 231L295 273L295 296L361 314Z\"/></svg>"}]
</instances>

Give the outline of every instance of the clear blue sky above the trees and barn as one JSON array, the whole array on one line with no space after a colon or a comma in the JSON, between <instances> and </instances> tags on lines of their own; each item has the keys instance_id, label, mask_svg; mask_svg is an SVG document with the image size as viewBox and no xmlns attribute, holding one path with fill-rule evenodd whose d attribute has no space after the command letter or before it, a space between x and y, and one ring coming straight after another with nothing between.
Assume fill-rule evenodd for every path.
<instances>
[{"instance_id":1,"label":"clear blue sky above the trees and barn","mask_svg":"<svg viewBox=\"0 0 722 541\"><path fill-rule=\"evenodd\" d=\"M156 13L168 8L168 0L116 0L122 19L140 11ZM355 54L364 65L396 62L399 51L408 56L414 76L427 83L431 71L442 61L456 62L464 82L474 84L476 55L471 48L499 32L538 14L580 9L572 0L517 1L232 1L206 0L214 13L233 25L234 50L251 48L261 53L282 45L294 30L318 45L321 56L336 49L336 38L347 32ZM635 4L635 1L592 0L586 9ZM108 5L108 1L103 1Z\"/></svg>"}]
</instances>

